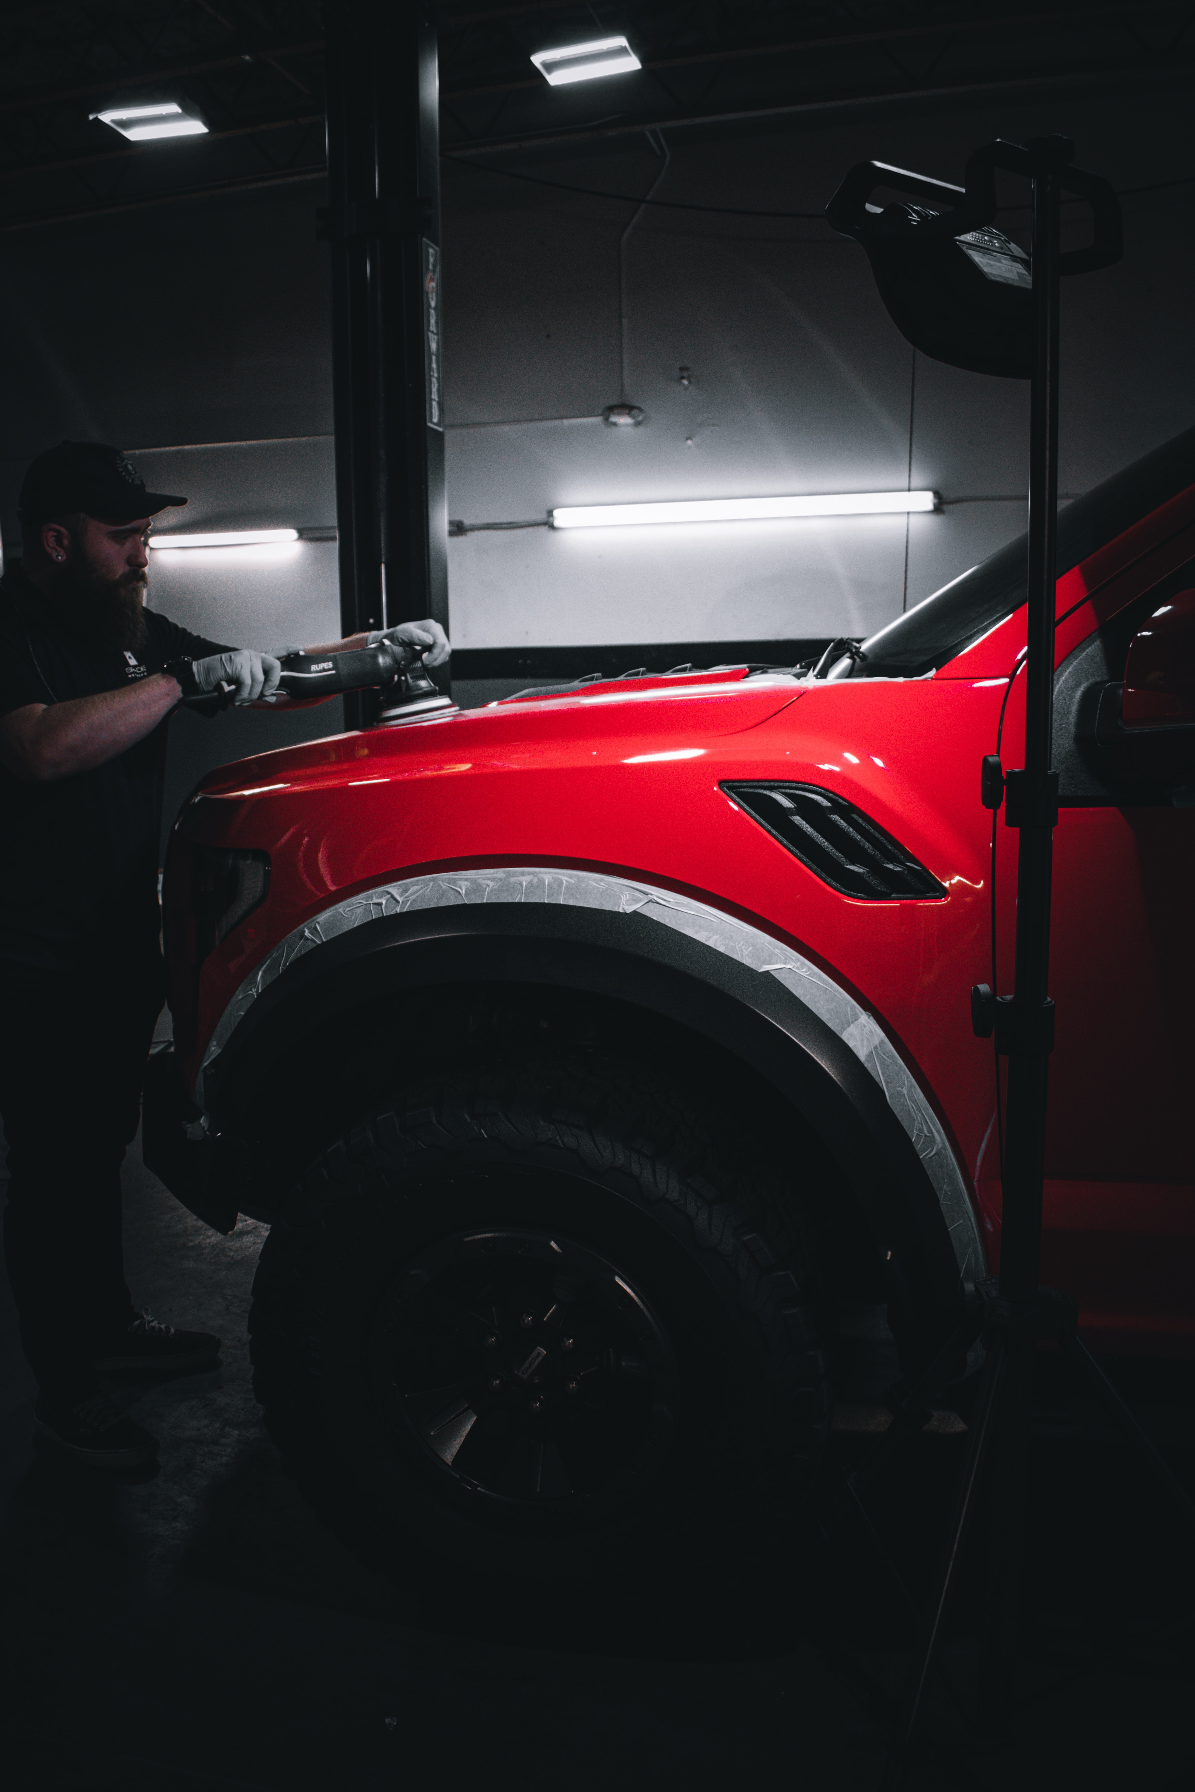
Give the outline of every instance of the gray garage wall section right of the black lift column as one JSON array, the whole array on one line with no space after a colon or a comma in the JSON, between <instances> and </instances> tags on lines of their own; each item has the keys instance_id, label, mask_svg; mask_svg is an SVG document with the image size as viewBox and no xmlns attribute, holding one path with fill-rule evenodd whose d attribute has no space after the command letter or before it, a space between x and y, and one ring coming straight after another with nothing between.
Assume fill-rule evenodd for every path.
<instances>
[{"instance_id":1,"label":"gray garage wall section right of the black lift column","mask_svg":"<svg viewBox=\"0 0 1195 1792\"><path fill-rule=\"evenodd\" d=\"M1195 174L1181 120L1134 99L704 143L677 133L656 197L819 211L864 156L960 179L973 145L1059 127L1118 186L1165 179L1175 161ZM661 163L640 140L566 167L512 167L645 192ZM1023 529L1027 387L914 355L853 244L815 222L647 210L623 244L623 383L618 237L631 208L459 167L446 192L453 516L907 486L944 500L908 521L466 536L450 543L462 645L867 633ZM1191 423L1191 192L1127 197L1125 262L1066 283L1068 493ZM640 428L600 421L620 398L643 407ZM505 421L520 418L564 421Z\"/></svg>"}]
</instances>

